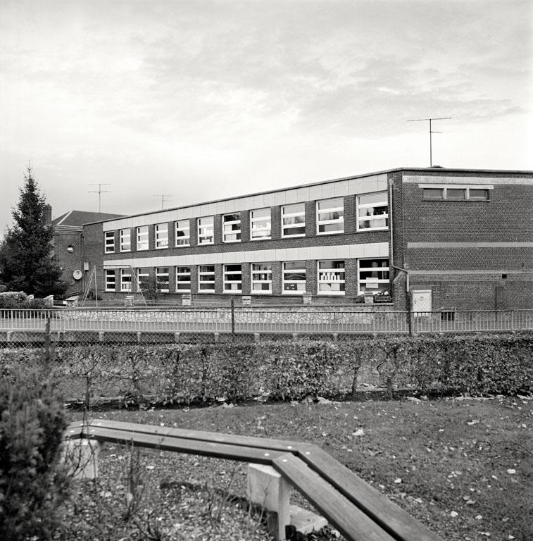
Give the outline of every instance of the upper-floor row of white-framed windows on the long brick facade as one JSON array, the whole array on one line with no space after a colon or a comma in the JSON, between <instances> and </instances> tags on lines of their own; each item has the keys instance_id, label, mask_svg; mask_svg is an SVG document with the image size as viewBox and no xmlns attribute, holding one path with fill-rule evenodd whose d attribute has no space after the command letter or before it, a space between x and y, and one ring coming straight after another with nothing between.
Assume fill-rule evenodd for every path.
<instances>
[{"instance_id":1,"label":"upper-floor row of white-framed windows on the long brick facade","mask_svg":"<svg viewBox=\"0 0 533 541\"><path fill-rule=\"evenodd\" d=\"M282 238L304 237L306 235L306 209L304 203L282 206ZM389 226L387 192L375 192L357 196L357 230L380 230ZM250 240L271 238L272 218L270 208L249 211ZM241 242L241 212L222 214L222 242ZM213 244L214 216L196 218L199 245ZM317 235L344 233L344 197L333 197L316 201ZM148 225L136 228L137 250L149 249ZM168 223L154 226L156 249L168 248ZM175 247L190 246L191 229L189 220L175 222ZM119 232L120 251L131 251L130 228ZM105 234L106 254L115 251L115 232Z\"/></svg>"}]
</instances>

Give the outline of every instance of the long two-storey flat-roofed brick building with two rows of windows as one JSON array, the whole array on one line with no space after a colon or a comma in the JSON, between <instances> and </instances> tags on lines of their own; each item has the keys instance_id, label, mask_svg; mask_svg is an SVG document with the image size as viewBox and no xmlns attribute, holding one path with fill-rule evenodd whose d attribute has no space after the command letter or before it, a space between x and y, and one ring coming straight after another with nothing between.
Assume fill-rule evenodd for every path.
<instances>
[{"instance_id":1,"label":"long two-storey flat-roofed brick building with two rows of windows","mask_svg":"<svg viewBox=\"0 0 533 541\"><path fill-rule=\"evenodd\" d=\"M533 172L399 168L99 220L82 253L104 299L152 277L175 304L533 308Z\"/></svg>"}]
</instances>

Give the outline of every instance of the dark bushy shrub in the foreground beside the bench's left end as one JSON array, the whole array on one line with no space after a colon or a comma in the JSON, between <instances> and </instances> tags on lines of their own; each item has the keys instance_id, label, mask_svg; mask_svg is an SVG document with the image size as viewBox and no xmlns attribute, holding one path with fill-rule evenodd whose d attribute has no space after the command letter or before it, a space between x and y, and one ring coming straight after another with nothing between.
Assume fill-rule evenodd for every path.
<instances>
[{"instance_id":1,"label":"dark bushy shrub in the foreground beside the bench's left end","mask_svg":"<svg viewBox=\"0 0 533 541\"><path fill-rule=\"evenodd\" d=\"M0 539L51 539L61 525L66 418L49 356L6 366L0 380Z\"/></svg>"}]
</instances>

